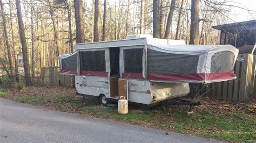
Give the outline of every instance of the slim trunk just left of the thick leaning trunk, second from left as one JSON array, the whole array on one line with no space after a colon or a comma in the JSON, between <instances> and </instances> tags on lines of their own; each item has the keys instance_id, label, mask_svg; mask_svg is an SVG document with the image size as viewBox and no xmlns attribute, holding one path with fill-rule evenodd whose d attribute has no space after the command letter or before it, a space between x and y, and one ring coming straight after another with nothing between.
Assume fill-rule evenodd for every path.
<instances>
[{"instance_id":1,"label":"slim trunk just left of the thick leaning trunk, second from left","mask_svg":"<svg viewBox=\"0 0 256 143\"><path fill-rule=\"evenodd\" d=\"M16 49L15 49L15 43L14 43L14 26L12 24L12 10L14 9L13 8L13 5L12 5L12 0L9 1L9 4L10 4L10 25L11 25L11 39L12 39L12 49L13 49L13 55L14 56L14 62L15 62L15 80L16 81L19 81L19 76L18 76L18 62L17 62L17 54L16 54Z\"/></svg>"}]
</instances>

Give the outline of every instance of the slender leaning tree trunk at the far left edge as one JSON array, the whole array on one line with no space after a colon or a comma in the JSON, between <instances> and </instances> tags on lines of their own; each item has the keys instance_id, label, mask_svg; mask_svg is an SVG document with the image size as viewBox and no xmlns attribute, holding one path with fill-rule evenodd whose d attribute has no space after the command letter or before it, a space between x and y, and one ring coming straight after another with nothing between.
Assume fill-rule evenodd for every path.
<instances>
[{"instance_id":1,"label":"slender leaning tree trunk at the far left edge","mask_svg":"<svg viewBox=\"0 0 256 143\"><path fill-rule=\"evenodd\" d=\"M8 40L6 20L5 20L5 14L4 14L4 6L3 6L2 0L0 0L0 4L1 4L1 11L2 11L3 26L4 26L5 46L7 48L7 54L8 54L8 60L9 60L11 78L13 78L14 77L14 68L12 67L11 49L10 49L9 40Z\"/></svg>"}]
</instances>

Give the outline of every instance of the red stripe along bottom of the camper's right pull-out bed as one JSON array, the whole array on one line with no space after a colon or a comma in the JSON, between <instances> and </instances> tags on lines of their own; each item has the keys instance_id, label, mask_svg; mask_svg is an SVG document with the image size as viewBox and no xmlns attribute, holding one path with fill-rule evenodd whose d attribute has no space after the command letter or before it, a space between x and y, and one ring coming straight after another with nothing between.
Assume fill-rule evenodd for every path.
<instances>
[{"instance_id":1,"label":"red stripe along bottom of the camper's right pull-out bed","mask_svg":"<svg viewBox=\"0 0 256 143\"><path fill-rule=\"evenodd\" d=\"M212 81L227 80L234 77L235 74L233 72L200 74L147 74L147 78L149 80L155 81Z\"/></svg>"}]
</instances>

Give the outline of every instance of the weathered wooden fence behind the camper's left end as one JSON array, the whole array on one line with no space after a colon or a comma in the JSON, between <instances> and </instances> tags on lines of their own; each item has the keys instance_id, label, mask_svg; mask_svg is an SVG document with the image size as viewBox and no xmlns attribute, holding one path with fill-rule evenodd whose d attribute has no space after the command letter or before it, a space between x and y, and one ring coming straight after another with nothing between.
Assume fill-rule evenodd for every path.
<instances>
[{"instance_id":1,"label":"weathered wooden fence behind the camper's left end","mask_svg":"<svg viewBox=\"0 0 256 143\"><path fill-rule=\"evenodd\" d=\"M48 87L57 85L75 87L75 77L72 75L61 75L60 67L43 67L41 69L41 83Z\"/></svg>"}]
</instances>

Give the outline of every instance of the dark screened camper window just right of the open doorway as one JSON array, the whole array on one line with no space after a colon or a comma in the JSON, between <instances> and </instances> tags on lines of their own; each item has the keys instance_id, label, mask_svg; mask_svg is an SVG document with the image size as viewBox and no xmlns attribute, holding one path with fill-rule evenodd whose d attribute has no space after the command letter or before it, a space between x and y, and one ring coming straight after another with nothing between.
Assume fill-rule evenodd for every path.
<instances>
[{"instance_id":1,"label":"dark screened camper window just right of the open doorway","mask_svg":"<svg viewBox=\"0 0 256 143\"><path fill-rule=\"evenodd\" d=\"M124 72L142 73L143 48L124 49Z\"/></svg>"}]
</instances>

